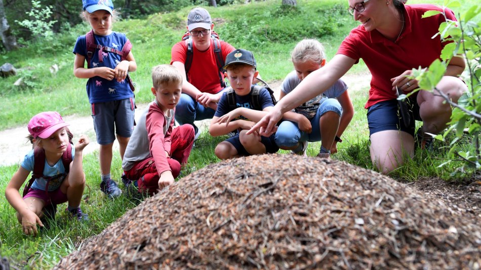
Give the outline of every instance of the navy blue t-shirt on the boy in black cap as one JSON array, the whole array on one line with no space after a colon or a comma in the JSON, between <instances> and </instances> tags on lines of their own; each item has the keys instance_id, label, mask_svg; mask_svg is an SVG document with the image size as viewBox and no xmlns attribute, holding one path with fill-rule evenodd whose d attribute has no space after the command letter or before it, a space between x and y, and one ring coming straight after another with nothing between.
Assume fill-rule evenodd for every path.
<instances>
[{"instance_id":1,"label":"navy blue t-shirt on the boy in black cap","mask_svg":"<svg viewBox=\"0 0 481 270\"><path fill-rule=\"evenodd\" d=\"M243 108L249 108L249 109L254 109L254 105L252 104L252 88L251 87L251 92L245 96L238 96L237 94L234 93L235 95L235 107L243 107ZM272 99L270 98L269 91L266 88L262 88L259 91L259 104L261 105L261 110L264 110L266 107L274 107L274 104L272 103ZM227 100L227 91L225 91L222 94L222 97L219 100L219 103L217 104L217 110L214 116L221 117L224 114L229 113L232 111L232 109L229 107L229 102ZM242 117L241 119L245 119Z\"/></svg>"}]
</instances>

